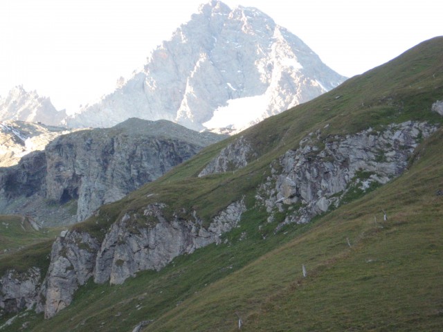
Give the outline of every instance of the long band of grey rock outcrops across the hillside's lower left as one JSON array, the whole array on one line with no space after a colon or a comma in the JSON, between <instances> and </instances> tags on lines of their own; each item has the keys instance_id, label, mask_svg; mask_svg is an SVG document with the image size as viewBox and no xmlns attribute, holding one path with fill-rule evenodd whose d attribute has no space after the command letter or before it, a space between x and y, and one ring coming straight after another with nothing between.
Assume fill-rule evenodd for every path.
<instances>
[{"instance_id":1,"label":"long band of grey rock outcrops across the hillside's lower left","mask_svg":"<svg viewBox=\"0 0 443 332\"><path fill-rule=\"evenodd\" d=\"M220 243L221 234L234 228L246 210L244 201L232 203L204 227L195 211L192 220L177 215L168 220L166 207L153 203L143 216L125 214L101 242L87 232L62 232L53 243L43 281L35 268L26 273L8 271L0 279L0 310L16 312L37 304L37 312L53 317L89 278L99 284L121 284L138 271L160 270L174 257Z\"/></svg>"}]
</instances>

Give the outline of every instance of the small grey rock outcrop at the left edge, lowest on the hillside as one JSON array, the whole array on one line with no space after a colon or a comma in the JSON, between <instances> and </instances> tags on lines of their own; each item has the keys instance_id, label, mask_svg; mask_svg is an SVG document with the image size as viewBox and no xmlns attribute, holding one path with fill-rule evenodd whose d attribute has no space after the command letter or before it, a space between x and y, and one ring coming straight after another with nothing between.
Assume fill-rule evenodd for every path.
<instances>
[{"instance_id":1,"label":"small grey rock outcrop at the left edge, lowest on the hillside","mask_svg":"<svg viewBox=\"0 0 443 332\"><path fill-rule=\"evenodd\" d=\"M24 273L8 270L0 278L0 316L33 308L37 304L41 278L39 268L29 268Z\"/></svg>"}]
</instances>

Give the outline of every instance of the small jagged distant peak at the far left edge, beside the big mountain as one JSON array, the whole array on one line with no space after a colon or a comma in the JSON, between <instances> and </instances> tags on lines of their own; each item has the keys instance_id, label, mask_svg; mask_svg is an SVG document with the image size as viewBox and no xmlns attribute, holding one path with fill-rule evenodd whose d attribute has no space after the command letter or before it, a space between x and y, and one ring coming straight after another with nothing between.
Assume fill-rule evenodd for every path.
<instances>
[{"instance_id":1,"label":"small jagged distant peak at the far left edge, beside the big mountain","mask_svg":"<svg viewBox=\"0 0 443 332\"><path fill-rule=\"evenodd\" d=\"M15 86L8 96L0 98L0 120L21 120L57 125L66 118L66 112L57 111L51 100L40 97L36 91L27 92L23 86Z\"/></svg>"}]
</instances>

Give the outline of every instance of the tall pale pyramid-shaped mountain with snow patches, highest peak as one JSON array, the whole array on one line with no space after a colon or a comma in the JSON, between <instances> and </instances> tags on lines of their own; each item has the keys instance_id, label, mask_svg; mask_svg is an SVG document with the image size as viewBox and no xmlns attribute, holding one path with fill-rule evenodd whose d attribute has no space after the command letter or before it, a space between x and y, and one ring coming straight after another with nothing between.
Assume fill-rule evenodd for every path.
<instances>
[{"instance_id":1,"label":"tall pale pyramid-shaped mountain with snow patches, highest peak","mask_svg":"<svg viewBox=\"0 0 443 332\"><path fill-rule=\"evenodd\" d=\"M344 80L260 10L210 1L152 51L143 70L67 123L110 127L137 117L239 130Z\"/></svg>"}]
</instances>

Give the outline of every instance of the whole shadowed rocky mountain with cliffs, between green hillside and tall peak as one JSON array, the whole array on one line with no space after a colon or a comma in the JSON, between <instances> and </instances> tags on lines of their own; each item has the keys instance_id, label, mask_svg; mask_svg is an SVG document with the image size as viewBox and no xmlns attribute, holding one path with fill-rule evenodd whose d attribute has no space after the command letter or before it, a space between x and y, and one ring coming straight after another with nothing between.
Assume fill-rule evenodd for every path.
<instances>
[{"instance_id":1,"label":"whole shadowed rocky mountain with cliffs, between green hillside and tall peak","mask_svg":"<svg viewBox=\"0 0 443 332\"><path fill-rule=\"evenodd\" d=\"M60 136L0 170L0 212L46 224L82 221L221 138L145 120Z\"/></svg>"}]
</instances>

